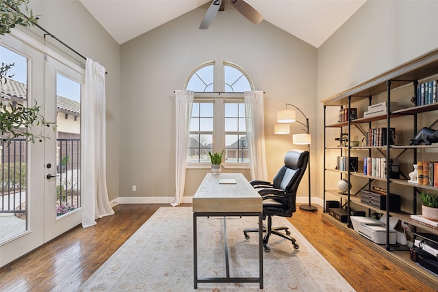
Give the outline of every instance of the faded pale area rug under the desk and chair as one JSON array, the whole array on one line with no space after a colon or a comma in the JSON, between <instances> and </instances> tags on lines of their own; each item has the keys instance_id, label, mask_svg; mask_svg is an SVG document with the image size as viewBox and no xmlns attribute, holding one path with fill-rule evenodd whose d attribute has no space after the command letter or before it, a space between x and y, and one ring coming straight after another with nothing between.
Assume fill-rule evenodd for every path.
<instances>
[{"instance_id":1,"label":"faded pale area rug under the desk and chair","mask_svg":"<svg viewBox=\"0 0 438 292\"><path fill-rule=\"evenodd\" d=\"M258 233L246 240L242 230L257 227L257 217L227 217L231 277L258 277ZM300 248L272 236L263 252L263 289L259 283L198 283L193 276L192 207L162 207L81 286L79 291L354 291L344 278L283 217ZM198 217L198 277L224 277L223 217Z\"/></svg>"}]
</instances>

